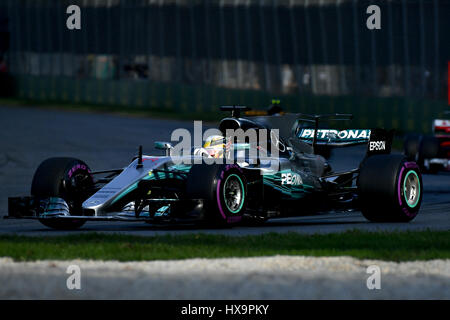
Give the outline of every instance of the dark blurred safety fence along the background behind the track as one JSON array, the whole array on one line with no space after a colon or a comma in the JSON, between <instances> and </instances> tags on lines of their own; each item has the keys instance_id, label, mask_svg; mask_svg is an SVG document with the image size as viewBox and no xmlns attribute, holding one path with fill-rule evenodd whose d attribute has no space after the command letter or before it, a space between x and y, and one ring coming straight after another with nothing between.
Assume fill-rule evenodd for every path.
<instances>
[{"instance_id":1,"label":"dark blurred safety fence along the background behind the track","mask_svg":"<svg viewBox=\"0 0 450 320\"><path fill-rule=\"evenodd\" d=\"M80 30L66 27L73 4ZM202 113L278 97L405 131L446 109L449 0L0 0L0 12L21 98Z\"/></svg>"}]
</instances>

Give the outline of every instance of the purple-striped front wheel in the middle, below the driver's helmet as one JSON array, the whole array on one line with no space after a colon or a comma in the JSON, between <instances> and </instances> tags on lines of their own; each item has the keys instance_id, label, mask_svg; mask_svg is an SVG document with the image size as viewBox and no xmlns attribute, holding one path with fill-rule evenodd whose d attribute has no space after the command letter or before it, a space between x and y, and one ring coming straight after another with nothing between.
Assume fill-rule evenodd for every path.
<instances>
[{"instance_id":1,"label":"purple-striped front wheel in the middle, below the driver's helmet","mask_svg":"<svg viewBox=\"0 0 450 320\"><path fill-rule=\"evenodd\" d=\"M208 224L230 226L239 223L245 212L247 180L236 164L194 164L186 193L191 199L204 199Z\"/></svg>"}]
</instances>

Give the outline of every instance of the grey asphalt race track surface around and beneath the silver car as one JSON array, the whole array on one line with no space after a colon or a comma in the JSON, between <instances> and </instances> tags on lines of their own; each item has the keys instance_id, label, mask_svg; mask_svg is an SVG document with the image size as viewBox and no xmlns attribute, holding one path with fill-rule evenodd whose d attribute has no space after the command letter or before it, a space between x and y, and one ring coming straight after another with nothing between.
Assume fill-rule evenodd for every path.
<instances>
[{"instance_id":1,"label":"grey asphalt race track surface around and beneath the silver car","mask_svg":"<svg viewBox=\"0 0 450 320\"><path fill-rule=\"evenodd\" d=\"M204 128L211 127L205 124ZM33 173L45 159L57 156L84 160L93 170L126 166L142 145L144 154L160 154L157 140L170 141L171 132L192 121L138 118L97 113L0 106L0 216L7 214L7 198L27 195ZM356 167L364 148L335 151L335 171ZM154 226L142 222L87 222L77 231L55 231L34 220L0 219L0 234L30 236L67 233L157 234L216 233L249 235L267 232L330 233L359 230L450 230L450 174L424 175L424 197L419 215L410 223L369 223L360 212L274 219L262 226L205 229L193 225Z\"/></svg>"}]
</instances>

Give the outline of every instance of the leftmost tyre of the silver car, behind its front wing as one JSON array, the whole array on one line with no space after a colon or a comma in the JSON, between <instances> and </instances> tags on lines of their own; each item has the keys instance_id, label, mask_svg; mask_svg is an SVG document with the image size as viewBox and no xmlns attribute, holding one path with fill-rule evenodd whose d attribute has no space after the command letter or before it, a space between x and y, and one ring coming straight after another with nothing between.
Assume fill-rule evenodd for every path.
<instances>
[{"instance_id":1,"label":"leftmost tyre of the silver car, behind its front wing","mask_svg":"<svg viewBox=\"0 0 450 320\"><path fill-rule=\"evenodd\" d=\"M92 194L93 179L86 163L74 158L50 158L37 168L31 194L37 198L59 197L66 201L70 214L81 215L82 203ZM79 219L43 218L46 227L58 230L80 228Z\"/></svg>"}]
</instances>

